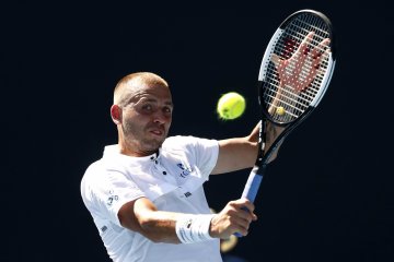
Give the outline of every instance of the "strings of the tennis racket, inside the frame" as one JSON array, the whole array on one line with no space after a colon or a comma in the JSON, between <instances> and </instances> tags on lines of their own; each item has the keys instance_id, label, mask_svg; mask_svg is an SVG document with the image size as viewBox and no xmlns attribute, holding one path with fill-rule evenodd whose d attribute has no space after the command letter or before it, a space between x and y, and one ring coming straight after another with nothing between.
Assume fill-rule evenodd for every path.
<instances>
[{"instance_id":1,"label":"strings of the tennis racket, inside the frame","mask_svg":"<svg viewBox=\"0 0 394 262\"><path fill-rule=\"evenodd\" d=\"M290 122L300 117L309 108L322 86L323 76L328 68L329 56L325 52L325 48L318 44L329 37L329 28L321 17L305 14L291 21L278 39L274 53L283 60L293 56L303 56L302 52L296 55L294 52L310 32L314 32L310 46L317 48L315 50L323 53L323 57L317 68L317 74L308 87L297 91L292 86L281 85L276 64L274 62L268 64L265 81L267 84L264 88L263 99L269 115L276 121ZM308 82L310 72L314 69L313 59L309 57L299 72L297 71L300 70L297 60L297 57L290 60L287 66L287 76L291 78L297 74L298 81Z\"/></svg>"}]
</instances>

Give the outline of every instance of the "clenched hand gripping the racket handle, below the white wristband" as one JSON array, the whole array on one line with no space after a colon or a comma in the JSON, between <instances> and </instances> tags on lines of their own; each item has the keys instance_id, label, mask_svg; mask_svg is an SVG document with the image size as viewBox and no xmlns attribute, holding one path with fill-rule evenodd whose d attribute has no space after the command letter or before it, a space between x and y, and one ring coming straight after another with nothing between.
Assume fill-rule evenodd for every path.
<instances>
[{"instance_id":1,"label":"clenched hand gripping the racket handle, below the white wristband","mask_svg":"<svg viewBox=\"0 0 394 262\"><path fill-rule=\"evenodd\" d=\"M229 238L235 233L246 236L250 224L257 219L254 204L246 199L230 201L225 207L213 216L210 235L216 238Z\"/></svg>"}]
</instances>

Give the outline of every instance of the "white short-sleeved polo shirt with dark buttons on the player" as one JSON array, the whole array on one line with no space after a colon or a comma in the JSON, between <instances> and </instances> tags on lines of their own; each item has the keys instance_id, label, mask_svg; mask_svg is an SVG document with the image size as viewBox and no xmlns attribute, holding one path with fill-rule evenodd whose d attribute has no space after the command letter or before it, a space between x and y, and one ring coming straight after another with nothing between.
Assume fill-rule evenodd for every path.
<instances>
[{"instance_id":1,"label":"white short-sleeved polo shirt with dark buttons on the player","mask_svg":"<svg viewBox=\"0 0 394 262\"><path fill-rule=\"evenodd\" d=\"M146 157L119 153L106 146L81 181L83 202L90 211L111 259L115 262L218 262L220 240L173 245L154 243L120 226L119 209L146 196L158 210L209 214L202 183L208 180L219 154L216 140L194 136L167 138L159 151Z\"/></svg>"}]
</instances>

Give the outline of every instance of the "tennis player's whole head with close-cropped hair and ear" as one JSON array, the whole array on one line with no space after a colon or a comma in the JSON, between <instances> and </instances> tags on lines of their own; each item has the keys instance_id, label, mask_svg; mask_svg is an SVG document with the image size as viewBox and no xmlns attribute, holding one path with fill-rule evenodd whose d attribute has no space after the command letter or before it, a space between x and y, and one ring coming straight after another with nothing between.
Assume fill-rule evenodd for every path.
<instances>
[{"instance_id":1,"label":"tennis player's whole head with close-cropped hair and ear","mask_svg":"<svg viewBox=\"0 0 394 262\"><path fill-rule=\"evenodd\" d=\"M123 78L115 87L111 107L120 152L132 156L157 152L169 133L172 110L171 92L162 78L149 72Z\"/></svg>"}]
</instances>

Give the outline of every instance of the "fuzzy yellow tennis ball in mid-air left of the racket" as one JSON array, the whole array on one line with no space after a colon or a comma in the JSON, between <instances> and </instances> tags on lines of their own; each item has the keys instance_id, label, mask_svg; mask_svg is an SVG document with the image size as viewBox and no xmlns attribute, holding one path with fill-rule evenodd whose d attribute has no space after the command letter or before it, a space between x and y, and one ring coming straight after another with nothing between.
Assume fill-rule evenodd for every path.
<instances>
[{"instance_id":1,"label":"fuzzy yellow tennis ball in mid-air left of the racket","mask_svg":"<svg viewBox=\"0 0 394 262\"><path fill-rule=\"evenodd\" d=\"M245 107L245 98L239 93L230 92L220 97L217 111L221 119L231 120L241 117Z\"/></svg>"}]
</instances>

